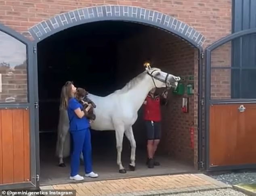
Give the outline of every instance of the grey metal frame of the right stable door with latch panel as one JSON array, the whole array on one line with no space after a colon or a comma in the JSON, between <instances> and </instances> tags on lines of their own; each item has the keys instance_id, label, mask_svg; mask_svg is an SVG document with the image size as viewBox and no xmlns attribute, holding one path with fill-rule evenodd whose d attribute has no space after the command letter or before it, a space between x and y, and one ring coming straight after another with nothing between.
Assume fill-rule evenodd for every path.
<instances>
[{"instance_id":1,"label":"grey metal frame of the right stable door with latch panel","mask_svg":"<svg viewBox=\"0 0 256 196\"><path fill-rule=\"evenodd\" d=\"M210 166L210 105L211 104L234 104L234 103L256 103L256 98L253 99L226 99L226 100L211 100L210 92L211 92L211 52L218 48L219 46L222 46L223 44L230 42L236 38L239 38L242 40L242 36L244 35L250 35L256 33L256 28L253 29L247 29L243 31L238 31L236 33L233 33L231 35L226 36L225 38L222 38L218 40L217 42L214 42L212 45L208 46L205 49L205 55L206 55L206 70L205 70L205 100L206 100L206 115L205 115L205 145L206 150L204 152L204 161L206 163L205 169L206 171L223 171L223 170L233 170L233 169L248 169L248 168L256 168L255 164L250 165L227 165L227 166Z\"/></svg>"}]
</instances>

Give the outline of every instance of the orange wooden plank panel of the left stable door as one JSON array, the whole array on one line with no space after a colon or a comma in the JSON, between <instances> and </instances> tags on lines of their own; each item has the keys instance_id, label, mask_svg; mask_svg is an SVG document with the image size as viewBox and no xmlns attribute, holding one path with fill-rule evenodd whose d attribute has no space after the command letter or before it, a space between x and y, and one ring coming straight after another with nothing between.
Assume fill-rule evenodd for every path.
<instances>
[{"instance_id":1,"label":"orange wooden plank panel of the left stable door","mask_svg":"<svg viewBox=\"0 0 256 196\"><path fill-rule=\"evenodd\" d=\"M29 111L0 110L0 183L30 181Z\"/></svg>"}]
</instances>

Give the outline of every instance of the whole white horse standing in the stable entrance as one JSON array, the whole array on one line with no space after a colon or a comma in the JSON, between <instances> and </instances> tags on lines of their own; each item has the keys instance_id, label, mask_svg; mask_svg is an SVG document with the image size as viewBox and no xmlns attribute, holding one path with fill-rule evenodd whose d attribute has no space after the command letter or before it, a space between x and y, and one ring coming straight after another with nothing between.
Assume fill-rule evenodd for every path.
<instances>
[{"instance_id":1,"label":"whole white horse standing in the stable entrance","mask_svg":"<svg viewBox=\"0 0 256 196\"><path fill-rule=\"evenodd\" d=\"M165 73L157 68L146 68L146 71L129 81L122 89L108 96L88 94L88 98L97 105L94 108L96 119L91 123L91 129L97 131L114 130L117 148L117 164L120 173L126 173L121 162L122 143L124 134L130 142L131 156L129 169L135 170L136 142L132 125L138 118L138 110L152 88L177 87L180 77ZM63 93L61 94L61 99ZM58 125L57 156L59 166L65 167L63 157L70 153L69 119L67 111L60 109Z\"/></svg>"}]
</instances>

